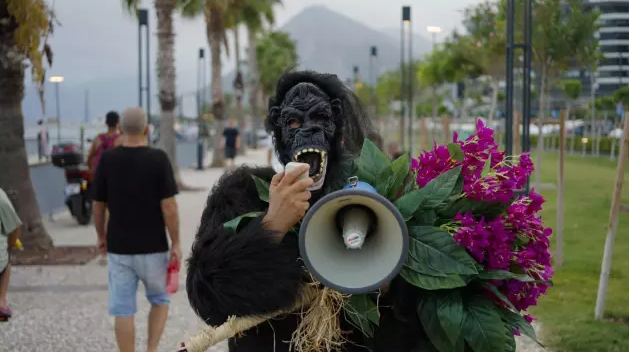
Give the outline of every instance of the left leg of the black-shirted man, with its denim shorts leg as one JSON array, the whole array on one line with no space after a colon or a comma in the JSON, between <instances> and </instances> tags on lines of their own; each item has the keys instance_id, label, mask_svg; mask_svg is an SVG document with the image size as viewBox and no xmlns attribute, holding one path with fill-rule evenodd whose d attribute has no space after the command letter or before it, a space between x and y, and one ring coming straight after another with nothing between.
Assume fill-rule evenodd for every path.
<instances>
[{"instance_id":1,"label":"left leg of the black-shirted man, with its denim shorts leg","mask_svg":"<svg viewBox=\"0 0 629 352\"><path fill-rule=\"evenodd\" d=\"M115 317L116 342L120 352L134 352L138 277L133 256L108 253L108 257L109 314Z\"/></svg>"}]
</instances>

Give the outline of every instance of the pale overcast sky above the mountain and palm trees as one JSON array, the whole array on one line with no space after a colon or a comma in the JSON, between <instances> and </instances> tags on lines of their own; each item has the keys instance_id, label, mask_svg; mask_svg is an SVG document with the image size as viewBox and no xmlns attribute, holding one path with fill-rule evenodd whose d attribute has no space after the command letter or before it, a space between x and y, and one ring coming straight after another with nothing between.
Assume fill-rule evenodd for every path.
<instances>
[{"instance_id":1,"label":"pale overcast sky above the mountain and palm trees","mask_svg":"<svg viewBox=\"0 0 629 352\"><path fill-rule=\"evenodd\" d=\"M121 0L48 0L61 22L51 39L55 62L50 74L63 75L67 84L89 83L137 74L137 25L126 13ZM151 34L155 34L155 13L152 1L143 0L150 10ZM324 5L374 29L399 28L401 7L413 1L400 0L284 0L276 8L277 26L281 27L292 16L308 6ZM430 2L430 7L412 6L414 32L429 37L426 26L439 26L443 39L460 26L461 10L479 0L448 0ZM196 71L198 48L206 47L205 24L202 18L175 20L176 67L183 75ZM313 30L316 30L313 29ZM244 30L241 47L246 46ZM155 38L151 52L156 53ZM154 55L154 54L153 54ZM153 56L155 57L155 56ZM154 65L154 63L152 63ZM225 60L224 73L233 68L233 60Z\"/></svg>"}]
</instances>

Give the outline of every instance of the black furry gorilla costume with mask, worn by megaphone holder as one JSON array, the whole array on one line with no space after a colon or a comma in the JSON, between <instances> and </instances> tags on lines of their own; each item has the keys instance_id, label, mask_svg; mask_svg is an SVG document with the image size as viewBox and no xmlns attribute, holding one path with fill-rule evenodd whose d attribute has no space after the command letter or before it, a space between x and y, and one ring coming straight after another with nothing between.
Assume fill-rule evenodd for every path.
<instances>
[{"instance_id":1,"label":"black furry gorilla costume with mask, worn by megaphone holder","mask_svg":"<svg viewBox=\"0 0 629 352\"><path fill-rule=\"evenodd\" d=\"M273 134L282 164L310 164L310 204L341 189L351 175L353 159L364 139L375 135L358 98L335 75L289 72L270 99L266 129ZM265 315L293 306L304 284L297 236L281 243L262 224L251 220L237 234L223 224L250 212L264 212L252 175L267 182L270 167L246 167L224 174L214 186L188 259L186 290L190 305L208 325L229 316ZM355 329L340 314L348 341L338 352L415 352L427 339L417 318L419 290L396 277L380 297L380 322L373 338ZM289 352L300 317L287 314L259 324L229 340L230 352ZM427 345L430 345L428 343Z\"/></svg>"}]
</instances>

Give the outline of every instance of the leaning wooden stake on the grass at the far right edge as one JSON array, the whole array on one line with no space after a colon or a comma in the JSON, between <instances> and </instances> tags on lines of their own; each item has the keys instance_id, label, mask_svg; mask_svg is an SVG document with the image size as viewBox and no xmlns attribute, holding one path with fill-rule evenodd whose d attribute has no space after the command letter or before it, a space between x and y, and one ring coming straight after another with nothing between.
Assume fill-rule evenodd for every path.
<instances>
[{"instance_id":1,"label":"leaning wooden stake on the grass at the far right edge","mask_svg":"<svg viewBox=\"0 0 629 352\"><path fill-rule=\"evenodd\" d=\"M627 107L625 107L627 110ZM625 162L629 156L629 112L625 113L625 125L622 132L622 144L618 154L618 167L616 169L616 182L614 197L609 211L609 223L607 224L607 238L605 239L605 250L603 252L603 262L601 264L601 277L598 283L598 295L596 296L596 308L594 319L602 319L605 311L605 298L607 296L607 283L609 282L609 272L612 267L612 252L614 251L614 237L618 226L618 215L620 213L620 198L622 186L625 181Z\"/></svg>"}]
</instances>

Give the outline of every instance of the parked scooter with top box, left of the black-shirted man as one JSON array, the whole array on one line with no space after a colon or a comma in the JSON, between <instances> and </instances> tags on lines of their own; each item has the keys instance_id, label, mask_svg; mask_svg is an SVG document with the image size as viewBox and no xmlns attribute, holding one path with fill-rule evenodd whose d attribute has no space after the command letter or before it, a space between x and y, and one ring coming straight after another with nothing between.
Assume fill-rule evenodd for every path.
<instances>
[{"instance_id":1,"label":"parked scooter with top box, left of the black-shirted man","mask_svg":"<svg viewBox=\"0 0 629 352\"><path fill-rule=\"evenodd\" d=\"M79 224L88 225L92 220L92 175L83 163L81 148L73 143L61 143L52 148L51 154L52 164L64 170L66 186L63 194L70 214Z\"/></svg>"}]
</instances>

